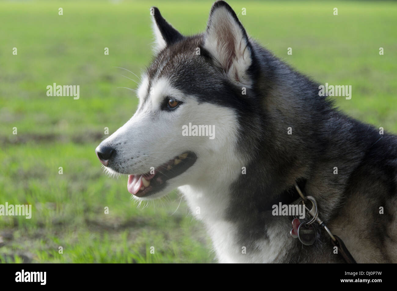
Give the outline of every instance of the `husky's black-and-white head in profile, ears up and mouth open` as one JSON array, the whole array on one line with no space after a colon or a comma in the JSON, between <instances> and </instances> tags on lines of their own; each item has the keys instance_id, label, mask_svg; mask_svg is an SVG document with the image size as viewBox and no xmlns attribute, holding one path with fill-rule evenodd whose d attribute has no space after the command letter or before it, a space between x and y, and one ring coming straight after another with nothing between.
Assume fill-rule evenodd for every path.
<instances>
[{"instance_id":1,"label":"husky's black-and-white head in profile, ears up and mouth open","mask_svg":"<svg viewBox=\"0 0 397 291\"><path fill-rule=\"evenodd\" d=\"M245 154L238 143L250 129L241 120L255 108L253 48L229 5L216 2L206 31L189 37L150 11L156 57L141 78L138 109L96 148L110 173L129 175L127 188L141 200L227 171L227 160Z\"/></svg>"}]
</instances>

